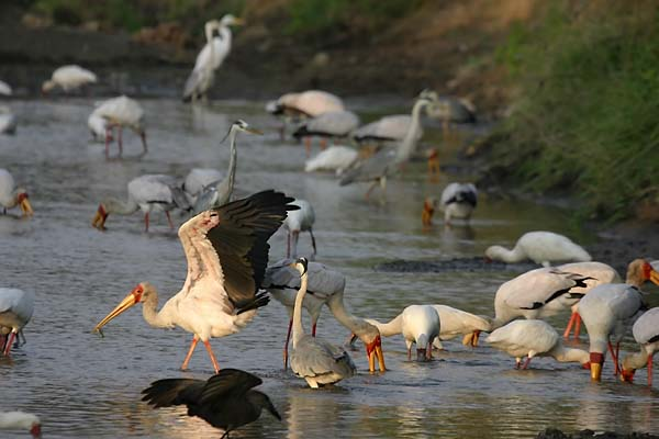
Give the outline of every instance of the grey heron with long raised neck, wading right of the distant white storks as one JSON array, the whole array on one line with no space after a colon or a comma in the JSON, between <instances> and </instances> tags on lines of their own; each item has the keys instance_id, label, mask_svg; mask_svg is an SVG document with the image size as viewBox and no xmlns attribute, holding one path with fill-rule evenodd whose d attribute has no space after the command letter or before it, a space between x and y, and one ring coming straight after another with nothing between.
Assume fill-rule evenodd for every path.
<instances>
[{"instance_id":1,"label":"grey heron with long raised neck, wading right of the distant white storks","mask_svg":"<svg viewBox=\"0 0 659 439\"><path fill-rule=\"evenodd\" d=\"M366 192L366 199L370 195L371 191L380 184L382 194L387 188L387 177L393 175L399 168L405 164L410 156L414 153L417 142L417 131L421 127L420 117L421 111L433 104L433 100L422 95L414 103L412 109L412 124L405 133L405 137L400 146L392 146L389 148L380 149L375 156L358 161L353 168L345 172L340 179L339 184L346 185L356 181L369 181L372 182L368 191Z\"/></svg>"}]
</instances>

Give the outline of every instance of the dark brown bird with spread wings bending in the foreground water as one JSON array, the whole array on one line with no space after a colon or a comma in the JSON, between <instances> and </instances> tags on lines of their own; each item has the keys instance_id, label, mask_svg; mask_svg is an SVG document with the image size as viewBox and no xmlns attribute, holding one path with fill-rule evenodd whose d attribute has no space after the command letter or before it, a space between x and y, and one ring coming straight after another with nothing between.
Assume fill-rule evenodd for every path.
<instances>
[{"instance_id":1,"label":"dark brown bird with spread wings bending in the foreground water","mask_svg":"<svg viewBox=\"0 0 659 439\"><path fill-rule=\"evenodd\" d=\"M224 431L222 438L236 428L255 421L265 408L281 420L272 402L253 387L263 384L260 378L238 369L223 369L208 381L167 379L154 381L142 391L154 408L185 405L188 416L198 416Z\"/></svg>"}]
</instances>

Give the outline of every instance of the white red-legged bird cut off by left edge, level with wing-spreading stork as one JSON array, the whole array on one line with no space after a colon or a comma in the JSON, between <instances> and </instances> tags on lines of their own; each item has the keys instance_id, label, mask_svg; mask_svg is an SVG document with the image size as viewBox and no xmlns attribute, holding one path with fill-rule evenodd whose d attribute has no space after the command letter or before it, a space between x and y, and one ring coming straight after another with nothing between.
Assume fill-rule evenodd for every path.
<instances>
[{"instance_id":1,"label":"white red-legged bird cut off by left edge, level with wing-spreading stork","mask_svg":"<svg viewBox=\"0 0 659 439\"><path fill-rule=\"evenodd\" d=\"M12 344L34 312L34 293L11 288L0 288L0 350L9 356ZM7 338L4 338L7 337Z\"/></svg>"}]
</instances>

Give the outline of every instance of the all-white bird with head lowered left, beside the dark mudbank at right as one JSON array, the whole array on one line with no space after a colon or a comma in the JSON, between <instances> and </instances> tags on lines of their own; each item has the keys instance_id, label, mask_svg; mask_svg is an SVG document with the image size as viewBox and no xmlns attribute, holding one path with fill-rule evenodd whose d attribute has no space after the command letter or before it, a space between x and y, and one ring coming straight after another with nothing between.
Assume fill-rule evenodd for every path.
<instances>
[{"instance_id":1,"label":"all-white bird with head lowered left, beside the dark mudbank at right","mask_svg":"<svg viewBox=\"0 0 659 439\"><path fill-rule=\"evenodd\" d=\"M549 267L551 262L588 262L591 256L583 247L574 244L567 236L552 232L528 232L517 239L512 250L501 246L492 246L485 250L491 260L507 263L521 262L526 259Z\"/></svg>"}]
</instances>

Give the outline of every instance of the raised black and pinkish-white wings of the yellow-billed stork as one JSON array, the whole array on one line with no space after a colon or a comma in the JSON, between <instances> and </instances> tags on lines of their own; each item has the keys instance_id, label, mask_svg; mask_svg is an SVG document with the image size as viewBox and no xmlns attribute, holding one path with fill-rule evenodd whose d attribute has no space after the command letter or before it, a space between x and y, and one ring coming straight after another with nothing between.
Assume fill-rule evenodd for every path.
<instances>
[{"instance_id":1,"label":"raised black and pinkish-white wings of the yellow-billed stork","mask_svg":"<svg viewBox=\"0 0 659 439\"><path fill-rule=\"evenodd\" d=\"M205 211L179 228L188 258L183 290L206 275L222 283L235 305L254 299L268 264L268 239L293 199L272 190Z\"/></svg>"}]
</instances>

